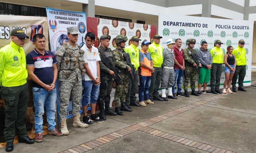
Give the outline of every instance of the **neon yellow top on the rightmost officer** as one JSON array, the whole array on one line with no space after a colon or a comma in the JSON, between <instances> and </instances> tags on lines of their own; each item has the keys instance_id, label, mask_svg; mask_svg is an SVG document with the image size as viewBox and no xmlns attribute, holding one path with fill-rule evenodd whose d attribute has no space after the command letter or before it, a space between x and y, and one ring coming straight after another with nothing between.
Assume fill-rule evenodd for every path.
<instances>
[{"instance_id":1,"label":"neon yellow top on the rightmost officer","mask_svg":"<svg viewBox=\"0 0 256 153\"><path fill-rule=\"evenodd\" d=\"M232 54L236 56L238 66L246 65L246 50L241 47L237 47L233 50Z\"/></svg>"}]
</instances>

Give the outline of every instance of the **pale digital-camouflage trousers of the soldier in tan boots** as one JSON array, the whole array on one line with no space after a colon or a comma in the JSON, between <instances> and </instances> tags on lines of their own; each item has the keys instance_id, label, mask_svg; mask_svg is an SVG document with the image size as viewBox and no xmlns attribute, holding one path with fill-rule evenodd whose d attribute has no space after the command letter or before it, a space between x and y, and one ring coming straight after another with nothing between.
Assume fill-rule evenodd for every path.
<instances>
[{"instance_id":1,"label":"pale digital-camouflage trousers of the soldier in tan boots","mask_svg":"<svg viewBox=\"0 0 256 153\"><path fill-rule=\"evenodd\" d=\"M82 80L77 78L75 82L60 81L60 108L59 116L60 119L67 118L67 108L69 106L69 98L72 96L72 115L79 115L81 108L81 98L82 98Z\"/></svg>"}]
</instances>

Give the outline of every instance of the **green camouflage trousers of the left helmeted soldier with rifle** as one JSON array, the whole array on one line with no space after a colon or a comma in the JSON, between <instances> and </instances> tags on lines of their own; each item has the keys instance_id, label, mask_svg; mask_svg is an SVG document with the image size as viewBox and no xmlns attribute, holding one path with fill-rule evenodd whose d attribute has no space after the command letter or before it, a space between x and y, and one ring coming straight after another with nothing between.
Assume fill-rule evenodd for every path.
<instances>
[{"instance_id":1,"label":"green camouflage trousers of the left helmeted soldier with rifle","mask_svg":"<svg viewBox=\"0 0 256 153\"><path fill-rule=\"evenodd\" d=\"M119 107L119 100L121 103L125 103L125 97L129 87L129 76L128 75L120 75L121 81L120 84L116 84L115 98L114 104L115 107Z\"/></svg>"}]
</instances>

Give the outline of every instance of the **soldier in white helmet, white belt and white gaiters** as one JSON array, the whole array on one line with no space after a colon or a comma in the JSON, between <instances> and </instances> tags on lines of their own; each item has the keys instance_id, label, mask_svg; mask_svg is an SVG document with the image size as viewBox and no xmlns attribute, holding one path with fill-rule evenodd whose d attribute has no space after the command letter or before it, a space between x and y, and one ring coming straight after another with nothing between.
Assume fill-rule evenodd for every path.
<instances>
[{"instance_id":1,"label":"soldier in white helmet, white belt and white gaiters","mask_svg":"<svg viewBox=\"0 0 256 153\"><path fill-rule=\"evenodd\" d=\"M168 39L166 42L168 48L163 50L163 64L162 64L162 77L161 77L161 89L162 99L168 101L166 98L166 88L168 88L168 98L177 99L172 95L172 86L174 84L174 50L175 41Z\"/></svg>"}]
</instances>

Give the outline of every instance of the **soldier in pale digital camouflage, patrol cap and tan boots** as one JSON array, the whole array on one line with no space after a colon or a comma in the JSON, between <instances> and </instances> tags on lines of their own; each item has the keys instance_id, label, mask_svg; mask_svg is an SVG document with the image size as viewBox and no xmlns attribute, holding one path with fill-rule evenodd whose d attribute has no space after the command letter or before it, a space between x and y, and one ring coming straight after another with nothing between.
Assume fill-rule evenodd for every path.
<instances>
[{"instance_id":1,"label":"soldier in pale digital camouflage, patrol cap and tan boots","mask_svg":"<svg viewBox=\"0 0 256 153\"><path fill-rule=\"evenodd\" d=\"M80 121L80 100L82 97L82 78L84 75L84 51L76 44L78 38L77 27L67 28L69 38L68 43L62 44L58 48L56 55L58 79L60 81L60 120L61 132L63 135L68 135L66 117L69 98L72 95L72 115L74 116L73 126L87 128L88 124Z\"/></svg>"}]
</instances>

